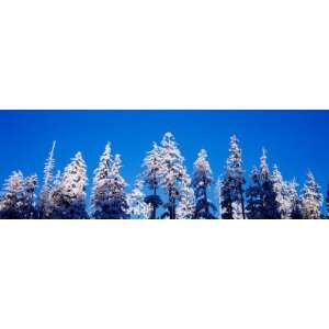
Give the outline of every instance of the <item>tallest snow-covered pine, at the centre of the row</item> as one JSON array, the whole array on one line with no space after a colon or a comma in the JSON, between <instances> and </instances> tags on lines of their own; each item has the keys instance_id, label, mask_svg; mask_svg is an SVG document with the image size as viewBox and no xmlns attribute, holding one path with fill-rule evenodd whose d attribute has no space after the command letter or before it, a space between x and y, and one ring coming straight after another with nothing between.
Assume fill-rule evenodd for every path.
<instances>
[{"instance_id":1,"label":"tallest snow-covered pine, at the centre of the row","mask_svg":"<svg viewBox=\"0 0 329 329\"><path fill-rule=\"evenodd\" d=\"M168 195L168 202L164 204L167 211L162 218L175 219L181 184L188 184L189 177L184 167L184 158L171 133L166 133L161 141L161 185Z\"/></svg>"}]
</instances>

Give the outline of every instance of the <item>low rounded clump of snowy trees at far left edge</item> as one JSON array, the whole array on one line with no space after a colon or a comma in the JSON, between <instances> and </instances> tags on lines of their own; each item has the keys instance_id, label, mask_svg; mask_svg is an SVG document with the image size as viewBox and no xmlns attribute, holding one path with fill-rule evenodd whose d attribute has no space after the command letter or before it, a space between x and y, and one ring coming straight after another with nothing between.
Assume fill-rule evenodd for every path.
<instances>
[{"instance_id":1,"label":"low rounded clump of snowy trees at far left edge","mask_svg":"<svg viewBox=\"0 0 329 329\"><path fill-rule=\"evenodd\" d=\"M24 179L21 171L14 171L4 184L0 204L0 218L35 218L36 175Z\"/></svg>"}]
</instances>

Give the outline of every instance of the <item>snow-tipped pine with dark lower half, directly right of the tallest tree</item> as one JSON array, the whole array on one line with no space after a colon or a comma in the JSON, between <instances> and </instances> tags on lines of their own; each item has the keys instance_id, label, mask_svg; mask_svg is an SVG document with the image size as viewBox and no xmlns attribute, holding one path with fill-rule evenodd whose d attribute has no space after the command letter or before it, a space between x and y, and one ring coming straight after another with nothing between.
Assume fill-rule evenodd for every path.
<instances>
[{"instance_id":1,"label":"snow-tipped pine with dark lower half, directly right of the tallest tree","mask_svg":"<svg viewBox=\"0 0 329 329\"><path fill-rule=\"evenodd\" d=\"M192 186L195 195L195 213L196 219L214 219L213 212L216 212L215 205L208 198L208 189L213 183L213 172L207 160L206 150L202 149L194 162Z\"/></svg>"}]
</instances>

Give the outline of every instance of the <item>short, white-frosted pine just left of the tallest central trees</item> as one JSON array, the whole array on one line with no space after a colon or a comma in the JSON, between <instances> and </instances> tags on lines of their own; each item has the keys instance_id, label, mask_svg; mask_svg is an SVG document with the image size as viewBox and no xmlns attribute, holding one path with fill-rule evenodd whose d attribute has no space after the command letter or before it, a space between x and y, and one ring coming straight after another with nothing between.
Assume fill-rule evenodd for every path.
<instances>
[{"instance_id":1,"label":"short, white-frosted pine just left of the tallest central trees","mask_svg":"<svg viewBox=\"0 0 329 329\"><path fill-rule=\"evenodd\" d=\"M151 213L151 205L145 202L143 182L137 179L133 191L127 195L128 214L131 219L148 219Z\"/></svg>"}]
</instances>

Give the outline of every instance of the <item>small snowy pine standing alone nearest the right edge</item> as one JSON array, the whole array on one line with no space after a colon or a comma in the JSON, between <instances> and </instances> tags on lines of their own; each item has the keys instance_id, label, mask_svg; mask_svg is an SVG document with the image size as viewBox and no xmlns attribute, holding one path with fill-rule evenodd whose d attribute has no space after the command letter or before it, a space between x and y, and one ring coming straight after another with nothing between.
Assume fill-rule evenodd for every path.
<instances>
[{"instance_id":1,"label":"small snowy pine standing alone nearest the right edge","mask_svg":"<svg viewBox=\"0 0 329 329\"><path fill-rule=\"evenodd\" d=\"M322 205L322 194L313 173L308 171L302 195L302 209L305 219L319 219Z\"/></svg>"}]
</instances>

